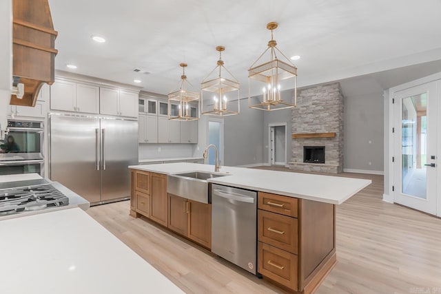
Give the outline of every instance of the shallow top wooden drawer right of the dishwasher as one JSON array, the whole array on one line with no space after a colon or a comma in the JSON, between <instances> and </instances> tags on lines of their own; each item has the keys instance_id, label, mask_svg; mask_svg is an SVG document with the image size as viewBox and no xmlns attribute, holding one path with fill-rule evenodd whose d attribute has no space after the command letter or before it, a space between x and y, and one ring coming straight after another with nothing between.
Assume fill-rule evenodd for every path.
<instances>
[{"instance_id":1,"label":"shallow top wooden drawer right of the dishwasher","mask_svg":"<svg viewBox=\"0 0 441 294\"><path fill-rule=\"evenodd\" d=\"M297 218L298 199L288 196L259 192L258 208Z\"/></svg>"}]
</instances>

